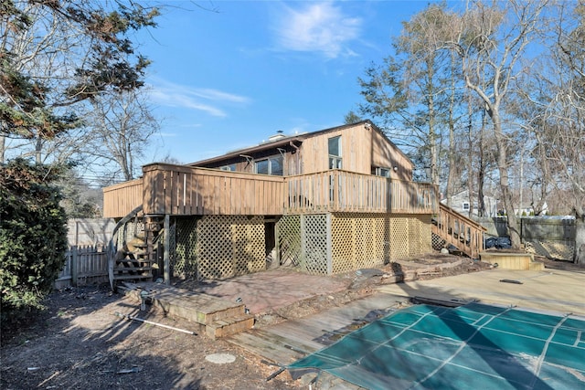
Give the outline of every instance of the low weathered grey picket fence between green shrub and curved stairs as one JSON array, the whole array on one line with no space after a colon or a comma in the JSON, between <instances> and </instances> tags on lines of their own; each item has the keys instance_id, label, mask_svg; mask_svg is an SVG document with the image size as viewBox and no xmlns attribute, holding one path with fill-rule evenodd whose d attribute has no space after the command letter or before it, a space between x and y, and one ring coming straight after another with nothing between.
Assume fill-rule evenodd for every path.
<instances>
[{"instance_id":1,"label":"low weathered grey picket fence between green shrub and curved stairs","mask_svg":"<svg viewBox=\"0 0 585 390\"><path fill-rule=\"evenodd\" d=\"M108 281L108 247L71 246L65 267L55 280L55 289Z\"/></svg>"}]
</instances>

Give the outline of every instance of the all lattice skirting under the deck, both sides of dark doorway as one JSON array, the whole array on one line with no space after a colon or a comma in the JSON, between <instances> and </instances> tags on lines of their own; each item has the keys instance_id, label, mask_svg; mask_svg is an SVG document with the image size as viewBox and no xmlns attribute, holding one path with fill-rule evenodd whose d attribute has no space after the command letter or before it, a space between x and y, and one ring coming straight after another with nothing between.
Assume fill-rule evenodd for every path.
<instances>
[{"instance_id":1,"label":"all lattice skirting under the deck, both sides of dark doorway","mask_svg":"<svg viewBox=\"0 0 585 390\"><path fill-rule=\"evenodd\" d=\"M376 267L431 251L431 216L282 216L276 231L281 264L314 275ZM176 218L171 234L175 278L226 279L266 269L263 216Z\"/></svg>"}]
</instances>

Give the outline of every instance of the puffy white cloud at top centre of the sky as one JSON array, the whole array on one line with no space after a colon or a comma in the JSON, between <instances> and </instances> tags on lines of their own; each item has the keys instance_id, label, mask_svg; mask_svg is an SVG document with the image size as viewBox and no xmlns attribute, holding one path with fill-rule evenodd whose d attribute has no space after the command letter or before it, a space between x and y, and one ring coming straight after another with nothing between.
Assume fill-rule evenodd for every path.
<instances>
[{"instance_id":1,"label":"puffy white cloud at top centre of the sky","mask_svg":"<svg viewBox=\"0 0 585 390\"><path fill-rule=\"evenodd\" d=\"M331 2L311 3L302 10L285 8L274 23L281 48L294 51L322 52L327 58L356 53L346 45L359 37L362 20L344 15Z\"/></svg>"}]
</instances>

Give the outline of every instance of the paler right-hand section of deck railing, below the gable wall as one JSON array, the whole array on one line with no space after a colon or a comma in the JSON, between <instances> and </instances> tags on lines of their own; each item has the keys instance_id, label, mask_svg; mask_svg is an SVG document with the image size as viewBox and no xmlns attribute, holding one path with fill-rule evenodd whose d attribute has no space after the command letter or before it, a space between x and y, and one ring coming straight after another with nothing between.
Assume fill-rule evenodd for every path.
<instances>
[{"instance_id":1,"label":"paler right-hand section of deck railing, below the gable wall","mask_svg":"<svg viewBox=\"0 0 585 390\"><path fill-rule=\"evenodd\" d=\"M333 170L288 176L286 212L428 214L438 209L431 184Z\"/></svg>"}]
</instances>

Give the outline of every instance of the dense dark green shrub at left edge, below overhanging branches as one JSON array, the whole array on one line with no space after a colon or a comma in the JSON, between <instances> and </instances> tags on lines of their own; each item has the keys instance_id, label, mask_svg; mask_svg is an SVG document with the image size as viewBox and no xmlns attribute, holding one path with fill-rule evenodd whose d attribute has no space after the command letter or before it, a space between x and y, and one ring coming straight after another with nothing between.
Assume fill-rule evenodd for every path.
<instances>
[{"instance_id":1,"label":"dense dark green shrub at left edge, below overhanging branches","mask_svg":"<svg viewBox=\"0 0 585 390\"><path fill-rule=\"evenodd\" d=\"M58 169L16 159L0 175L2 313L41 308L65 263L67 217L51 185Z\"/></svg>"}]
</instances>

